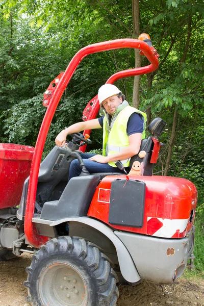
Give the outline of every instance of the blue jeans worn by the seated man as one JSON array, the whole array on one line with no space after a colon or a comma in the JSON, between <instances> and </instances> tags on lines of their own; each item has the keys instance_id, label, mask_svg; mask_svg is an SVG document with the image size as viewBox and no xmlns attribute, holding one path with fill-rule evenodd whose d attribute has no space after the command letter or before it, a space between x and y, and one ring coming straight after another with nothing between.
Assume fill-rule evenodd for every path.
<instances>
[{"instance_id":1,"label":"blue jeans worn by the seated man","mask_svg":"<svg viewBox=\"0 0 204 306\"><path fill-rule=\"evenodd\" d=\"M112 167L109 164L101 164L97 162L90 161L89 158L94 156L96 154L92 153L82 153L81 157L83 159L83 162L89 171L89 173L96 173L96 172L119 172L124 173L123 171L119 170L118 168ZM74 176L79 176L82 169L80 167L78 159L75 159L71 162L70 168L69 168L69 180Z\"/></svg>"}]
</instances>

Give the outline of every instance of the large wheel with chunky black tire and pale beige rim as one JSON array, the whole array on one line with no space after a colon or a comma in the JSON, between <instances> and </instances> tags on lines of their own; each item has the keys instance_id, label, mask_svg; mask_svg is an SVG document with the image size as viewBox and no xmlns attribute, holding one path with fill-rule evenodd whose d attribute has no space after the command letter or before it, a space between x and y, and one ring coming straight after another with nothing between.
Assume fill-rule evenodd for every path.
<instances>
[{"instance_id":1,"label":"large wheel with chunky black tire and pale beige rim","mask_svg":"<svg viewBox=\"0 0 204 306\"><path fill-rule=\"evenodd\" d=\"M98 248L78 237L59 237L41 246L26 268L33 306L115 306L117 275Z\"/></svg>"}]
</instances>

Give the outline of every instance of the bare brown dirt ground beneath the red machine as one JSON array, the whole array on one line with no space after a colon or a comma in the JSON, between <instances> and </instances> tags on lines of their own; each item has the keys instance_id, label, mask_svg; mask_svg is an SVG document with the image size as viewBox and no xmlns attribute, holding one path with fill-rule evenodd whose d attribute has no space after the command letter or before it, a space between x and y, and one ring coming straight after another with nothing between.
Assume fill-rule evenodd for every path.
<instances>
[{"instance_id":1,"label":"bare brown dirt ground beneath the red machine","mask_svg":"<svg viewBox=\"0 0 204 306\"><path fill-rule=\"evenodd\" d=\"M23 254L9 262L0 262L0 306L29 306L25 302L27 279L25 267L31 256ZM204 306L204 280L198 283L181 278L173 285L155 285L142 282L136 287L119 286L117 306Z\"/></svg>"}]
</instances>

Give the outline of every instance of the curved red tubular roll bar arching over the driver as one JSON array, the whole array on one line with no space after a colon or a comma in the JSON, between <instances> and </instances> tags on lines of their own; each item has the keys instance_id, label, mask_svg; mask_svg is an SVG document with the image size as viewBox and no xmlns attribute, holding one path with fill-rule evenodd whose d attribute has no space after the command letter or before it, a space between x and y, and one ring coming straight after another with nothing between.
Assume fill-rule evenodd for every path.
<instances>
[{"instance_id":1,"label":"curved red tubular roll bar arching over the driver","mask_svg":"<svg viewBox=\"0 0 204 306\"><path fill-rule=\"evenodd\" d=\"M159 66L158 54L156 49L152 46L149 46L144 41L127 38L127 39L116 39L105 42L99 42L86 46L82 48L77 54L75 54L75 56L72 58L69 65L67 66L65 72L61 73L52 83L50 83L48 89L44 94L43 105L47 107L47 111L44 115L35 145L35 151L31 165L31 172L30 172L28 198L27 198L27 206L25 210L25 222L24 222L25 236L27 237L29 243L33 246L39 247L48 240L47 237L40 236L37 234L35 223L32 222L32 218L35 209L38 173L40 168L42 152L47 137L47 133L49 130L49 126L52 122L53 116L55 114L59 101L62 97L62 94L66 89L75 69L77 69L77 66L80 64L83 58L85 58L87 55L92 53L113 50L118 48L140 49L151 64L145 67L117 72L114 75L112 75L112 77L107 81L107 83L113 84L116 80L123 77L149 73L157 69L157 67ZM97 96L95 96L88 103L85 111L87 111L87 108L89 108L89 105L94 99L95 103L91 108L92 111L88 113L86 120L95 118L99 110L99 105L98 103L96 103ZM86 116L85 111L84 111L84 116Z\"/></svg>"}]
</instances>

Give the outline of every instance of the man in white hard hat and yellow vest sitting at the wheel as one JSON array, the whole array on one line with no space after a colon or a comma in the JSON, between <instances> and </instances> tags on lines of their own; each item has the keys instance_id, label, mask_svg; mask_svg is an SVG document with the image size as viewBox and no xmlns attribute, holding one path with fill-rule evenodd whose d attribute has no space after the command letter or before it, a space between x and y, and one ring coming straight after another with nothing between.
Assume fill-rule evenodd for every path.
<instances>
[{"instance_id":1,"label":"man in white hard hat and yellow vest sitting at the wheel","mask_svg":"<svg viewBox=\"0 0 204 306\"><path fill-rule=\"evenodd\" d=\"M90 173L121 172L115 162L122 162L128 170L130 159L138 154L141 140L145 138L146 114L129 106L121 91L112 84L98 90L98 101L104 116L70 125L56 137L56 144L63 146L68 134L103 128L103 155L82 153L81 157ZM78 160L73 160L69 180L81 173Z\"/></svg>"}]
</instances>

